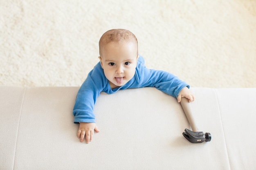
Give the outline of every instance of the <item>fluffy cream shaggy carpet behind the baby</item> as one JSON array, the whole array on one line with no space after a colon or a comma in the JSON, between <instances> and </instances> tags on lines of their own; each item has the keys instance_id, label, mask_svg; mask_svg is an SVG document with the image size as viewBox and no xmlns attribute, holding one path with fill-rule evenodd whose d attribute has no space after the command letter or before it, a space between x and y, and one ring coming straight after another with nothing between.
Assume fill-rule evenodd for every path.
<instances>
[{"instance_id":1,"label":"fluffy cream shaggy carpet behind the baby","mask_svg":"<svg viewBox=\"0 0 256 170\"><path fill-rule=\"evenodd\" d=\"M0 85L80 86L114 28L192 87L256 87L255 0L0 0Z\"/></svg>"}]
</instances>

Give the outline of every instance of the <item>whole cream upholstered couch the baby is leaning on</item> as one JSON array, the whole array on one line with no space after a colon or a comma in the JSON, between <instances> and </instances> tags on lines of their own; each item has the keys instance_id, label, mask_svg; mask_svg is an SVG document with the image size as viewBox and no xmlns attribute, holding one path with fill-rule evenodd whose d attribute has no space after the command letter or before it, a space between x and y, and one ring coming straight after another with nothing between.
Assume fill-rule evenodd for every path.
<instances>
[{"instance_id":1,"label":"whole cream upholstered couch the baby is leaning on","mask_svg":"<svg viewBox=\"0 0 256 170\"><path fill-rule=\"evenodd\" d=\"M155 88L101 93L99 133L76 137L79 87L0 87L0 170L255 170L256 88L191 88L210 142L192 144L177 100Z\"/></svg>"}]
</instances>

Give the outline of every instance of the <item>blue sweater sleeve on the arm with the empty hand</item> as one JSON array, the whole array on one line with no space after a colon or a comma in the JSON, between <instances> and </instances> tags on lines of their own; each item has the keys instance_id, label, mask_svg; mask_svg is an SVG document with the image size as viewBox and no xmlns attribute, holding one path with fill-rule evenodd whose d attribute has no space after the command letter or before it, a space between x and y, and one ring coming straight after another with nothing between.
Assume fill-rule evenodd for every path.
<instances>
[{"instance_id":1,"label":"blue sweater sleeve on the arm with the empty hand","mask_svg":"<svg viewBox=\"0 0 256 170\"><path fill-rule=\"evenodd\" d=\"M94 104L101 91L103 91L104 82L106 82L106 79L103 76L103 71L101 67L96 65L77 93L73 109L75 124L79 122L95 123Z\"/></svg>"}]
</instances>

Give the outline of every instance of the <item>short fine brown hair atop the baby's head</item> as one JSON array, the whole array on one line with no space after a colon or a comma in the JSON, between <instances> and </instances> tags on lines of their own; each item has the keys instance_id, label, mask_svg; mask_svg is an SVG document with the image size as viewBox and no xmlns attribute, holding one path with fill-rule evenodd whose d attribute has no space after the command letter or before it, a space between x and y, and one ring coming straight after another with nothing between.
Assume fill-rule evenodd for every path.
<instances>
[{"instance_id":1,"label":"short fine brown hair atop the baby's head","mask_svg":"<svg viewBox=\"0 0 256 170\"><path fill-rule=\"evenodd\" d=\"M138 46L138 41L135 35L126 29L111 29L106 33L103 33L101 39L99 40L99 54L101 56L102 46L108 44L109 42L130 42L133 41Z\"/></svg>"}]
</instances>

